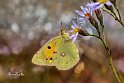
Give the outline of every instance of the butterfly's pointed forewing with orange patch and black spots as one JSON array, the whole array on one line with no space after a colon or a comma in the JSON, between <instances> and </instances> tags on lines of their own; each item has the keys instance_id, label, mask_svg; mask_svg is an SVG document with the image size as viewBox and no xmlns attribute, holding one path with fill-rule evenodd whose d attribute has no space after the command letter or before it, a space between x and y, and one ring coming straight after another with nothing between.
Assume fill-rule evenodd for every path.
<instances>
[{"instance_id":1,"label":"butterfly's pointed forewing with orange patch and black spots","mask_svg":"<svg viewBox=\"0 0 124 83\"><path fill-rule=\"evenodd\" d=\"M34 55L32 63L36 65L47 65L54 66L53 56L56 54L56 44L59 40L59 37L55 37L43 45L40 50Z\"/></svg>"}]
</instances>

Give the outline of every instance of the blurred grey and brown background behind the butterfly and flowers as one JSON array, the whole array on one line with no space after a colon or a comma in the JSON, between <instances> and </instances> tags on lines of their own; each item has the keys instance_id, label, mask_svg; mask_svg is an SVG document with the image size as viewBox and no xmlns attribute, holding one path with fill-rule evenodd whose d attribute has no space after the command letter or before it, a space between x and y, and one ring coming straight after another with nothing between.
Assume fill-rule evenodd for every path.
<instances>
[{"instance_id":1,"label":"blurred grey and brown background behind the butterfly and flowers","mask_svg":"<svg viewBox=\"0 0 124 83\"><path fill-rule=\"evenodd\" d=\"M70 25L88 0L0 0L0 83L117 83L106 52L96 38L79 38L79 63L68 71L31 63L33 55ZM117 0L122 19L124 1ZM104 12L107 42L124 79L124 29ZM120 39L121 38L121 39Z\"/></svg>"}]
</instances>

